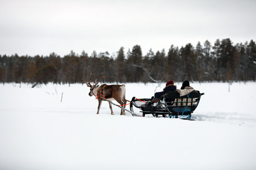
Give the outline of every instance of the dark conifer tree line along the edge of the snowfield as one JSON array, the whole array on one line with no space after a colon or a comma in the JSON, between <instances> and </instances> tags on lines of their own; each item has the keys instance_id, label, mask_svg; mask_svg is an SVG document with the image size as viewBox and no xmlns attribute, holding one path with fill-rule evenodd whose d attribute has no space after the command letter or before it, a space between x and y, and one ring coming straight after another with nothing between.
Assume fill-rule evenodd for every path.
<instances>
[{"instance_id":1,"label":"dark conifer tree line along the edge of the snowfield","mask_svg":"<svg viewBox=\"0 0 256 170\"><path fill-rule=\"evenodd\" d=\"M154 53L150 49L142 54L140 45L135 45L125 54L121 47L116 54L90 56L82 51L60 57L52 52L49 56L0 55L1 83L83 83L89 81L90 72L98 78L104 72L102 82L158 82L184 80L199 82L255 81L256 44L253 40L233 44L229 38L208 40L193 47L191 43L178 48L171 45Z\"/></svg>"}]
</instances>

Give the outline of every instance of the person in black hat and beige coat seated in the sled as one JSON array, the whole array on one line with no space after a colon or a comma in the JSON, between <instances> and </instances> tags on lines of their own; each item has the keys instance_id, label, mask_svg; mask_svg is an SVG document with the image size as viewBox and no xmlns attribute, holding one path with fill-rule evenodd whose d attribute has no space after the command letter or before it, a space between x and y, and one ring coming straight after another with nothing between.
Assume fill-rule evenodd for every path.
<instances>
[{"instance_id":1,"label":"person in black hat and beige coat seated in the sled","mask_svg":"<svg viewBox=\"0 0 256 170\"><path fill-rule=\"evenodd\" d=\"M194 91L195 89L192 88L191 86L189 86L189 81L186 80L182 83L182 86L180 89L176 89L175 91L179 92L180 96L185 96L188 95L190 92ZM176 99L175 99L176 102ZM181 105L181 103L183 102L183 105L186 105L186 99L178 99L178 106ZM191 99L188 99L188 106L191 105ZM195 102L193 102L193 104L195 104Z\"/></svg>"}]
</instances>

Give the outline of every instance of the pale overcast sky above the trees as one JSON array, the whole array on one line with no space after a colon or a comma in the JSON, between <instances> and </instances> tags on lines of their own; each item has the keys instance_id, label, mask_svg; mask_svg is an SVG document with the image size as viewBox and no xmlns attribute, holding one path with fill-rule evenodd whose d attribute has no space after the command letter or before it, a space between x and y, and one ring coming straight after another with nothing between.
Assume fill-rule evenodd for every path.
<instances>
[{"instance_id":1,"label":"pale overcast sky above the trees","mask_svg":"<svg viewBox=\"0 0 256 170\"><path fill-rule=\"evenodd\" d=\"M0 0L0 54L63 57L140 45L143 55L256 40L256 0Z\"/></svg>"}]
</instances>

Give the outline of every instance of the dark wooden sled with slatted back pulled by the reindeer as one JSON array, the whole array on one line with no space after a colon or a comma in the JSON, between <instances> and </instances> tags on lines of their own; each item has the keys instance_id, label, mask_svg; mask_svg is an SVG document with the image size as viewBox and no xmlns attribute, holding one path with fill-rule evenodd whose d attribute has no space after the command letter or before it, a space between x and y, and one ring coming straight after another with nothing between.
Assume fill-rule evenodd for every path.
<instances>
[{"instance_id":1,"label":"dark wooden sled with slatted back pulled by the reindeer","mask_svg":"<svg viewBox=\"0 0 256 170\"><path fill-rule=\"evenodd\" d=\"M131 99L130 110L134 112L133 106L139 108L145 114L153 116L168 115L170 118L190 119L191 113L195 111L199 104L201 96L204 93L192 91L188 95L180 96L177 91L167 91L160 98L154 99L154 96L146 99Z\"/></svg>"}]
</instances>

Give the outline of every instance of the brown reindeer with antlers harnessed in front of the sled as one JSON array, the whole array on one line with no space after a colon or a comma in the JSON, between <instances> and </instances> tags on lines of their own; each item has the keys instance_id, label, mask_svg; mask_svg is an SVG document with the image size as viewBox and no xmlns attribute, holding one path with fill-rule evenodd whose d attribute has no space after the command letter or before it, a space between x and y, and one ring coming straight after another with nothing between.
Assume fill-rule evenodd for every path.
<instances>
[{"instance_id":1,"label":"brown reindeer with antlers harnessed in front of the sled","mask_svg":"<svg viewBox=\"0 0 256 170\"><path fill-rule=\"evenodd\" d=\"M126 100L125 99L125 85L97 85L103 78L103 72L101 74L99 82L96 82L95 84L91 85L90 82L92 81L92 72L90 73L90 81L85 82L87 84L87 87L90 88L90 93L89 96L95 96L96 99L99 101L98 105L98 111L97 114L99 114L99 109L102 104L102 100L108 99L108 100L116 100L123 108L125 108L126 105ZM105 98L105 99L104 99ZM113 110L112 110L112 104L109 102L109 108L111 110L111 114L113 115ZM121 115L125 115L125 111L121 109Z\"/></svg>"}]
</instances>

